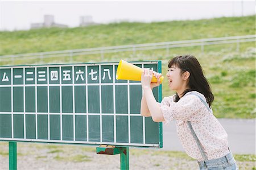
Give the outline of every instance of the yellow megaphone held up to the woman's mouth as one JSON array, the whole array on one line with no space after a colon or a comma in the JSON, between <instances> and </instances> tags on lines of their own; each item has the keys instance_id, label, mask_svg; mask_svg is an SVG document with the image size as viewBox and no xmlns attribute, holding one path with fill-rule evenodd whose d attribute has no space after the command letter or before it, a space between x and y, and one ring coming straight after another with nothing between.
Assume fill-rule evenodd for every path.
<instances>
[{"instance_id":1,"label":"yellow megaphone held up to the woman's mouth","mask_svg":"<svg viewBox=\"0 0 256 170\"><path fill-rule=\"evenodd\" d=\"M128 63L124 60L120 60L117 67L117 75L115 78L117 80L133 80L133 81L141 81L141 74L143 70L136 65ZM160 77L160 83L162 84L163 76ZM157 78L155 76L152 77L151 82L157 82Z\"/></svg>"}]
</instances>

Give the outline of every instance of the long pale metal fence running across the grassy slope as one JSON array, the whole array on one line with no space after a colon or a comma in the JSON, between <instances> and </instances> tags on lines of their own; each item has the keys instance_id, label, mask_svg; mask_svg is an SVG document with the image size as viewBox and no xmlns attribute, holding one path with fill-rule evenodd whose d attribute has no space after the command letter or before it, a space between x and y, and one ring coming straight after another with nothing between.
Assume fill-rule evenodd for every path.
<instances>
[{"instance_id":1,"label":"long pale metal fence running across the grassy slope","mask_svg":"<svg viewBox=\"0 0 256 170\"><path fill-rule=\"evenodd\" d=\"M205 45L213 44L237 44L237 51L240 50L240 43L255 42L256 35L244 35L244 36L229 36L222 38L209 38L209 39L196 39L196 40L182 40L175 42L162 42L162 43L148 43L148 44L134 44L134 45L121 45L113 47L99 47L99 48L86 48L86 49L71 49L64 51L51 51L51 52L38 52L38 53L26 53L18 55L5 55L0 56L1 61L15 61L22 57L22 60L39 59L42 61L46 58L52 57L69 57L69 61L73 61L74 56L79 55L92 55L99 54L101 59L104 59L106 53L116 52L133 52L136 55L137 51L151 50L151 49L166 49L166 55L169 55L170 48L179 47L193 47L201 46L201 52L204 52Z\"/></svg>"}]
</instances>

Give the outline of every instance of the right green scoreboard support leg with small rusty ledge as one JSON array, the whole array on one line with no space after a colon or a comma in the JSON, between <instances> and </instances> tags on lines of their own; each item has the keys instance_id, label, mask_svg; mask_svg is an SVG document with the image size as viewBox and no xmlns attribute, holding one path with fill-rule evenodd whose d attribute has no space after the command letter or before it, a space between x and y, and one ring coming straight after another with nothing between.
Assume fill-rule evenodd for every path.
<instances>
[{"instance_id":1,"label":"right green scoreboard support leg with small rusty ledge","mask_svg":"<svg viewBox=\"0 0 256 170\"><path fill-rule=\"evenodd\" d=\"M129 169L129 147L115 147L101 145L96 148L97 154L116 155L120 154L120 169Z\"/></svg>"}]
</instances>

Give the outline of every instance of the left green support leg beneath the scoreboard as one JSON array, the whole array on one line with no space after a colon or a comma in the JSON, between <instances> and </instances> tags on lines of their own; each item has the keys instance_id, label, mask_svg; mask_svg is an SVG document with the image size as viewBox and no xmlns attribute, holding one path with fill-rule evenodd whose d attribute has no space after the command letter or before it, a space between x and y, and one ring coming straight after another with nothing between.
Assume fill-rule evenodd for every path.
<instances>
[{"instance_id":1,"label":"left green support leg beneath the scoreboard","mask_svg":"<svg viewBox=\"0 0 256 170\"><path fill-rule=\"evenodd\" d=\"M9 170L17 169L17 143L9 142Z\"/></svg>"}]
</instances>

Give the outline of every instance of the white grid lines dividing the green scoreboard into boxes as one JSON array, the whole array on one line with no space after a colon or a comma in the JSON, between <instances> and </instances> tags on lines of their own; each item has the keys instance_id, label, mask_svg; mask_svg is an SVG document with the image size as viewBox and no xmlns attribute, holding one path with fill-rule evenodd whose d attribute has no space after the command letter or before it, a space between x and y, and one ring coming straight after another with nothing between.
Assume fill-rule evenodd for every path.
<instances>
[{"instance_id":1,"label":"white grid lines dividing the green scoreboard into boxes","mask_svg":"<svg viewBox=\"0 0 256 170\"><path fill-rule=\"evenodd\" d=\"M141 64L141 63L138 63ZM155 62L148 62L148 63L142 63L142 68L144 68L144 64L158 64L156 61ZM113 82L101 82L102 80L102 73L101 72L101 67L102 66L110 66L112 67L112 81ZM89 83L88 82L88 78L89 78L89 71L88 71L88 67L89 66L93 66L93 67L98 67L98 83ZM35 141L35 142L57 142L57 143L85 143L85 144L115 144L115 145L127 145L127 146L148 146L148 147L159 147L159 144L148 144L146 143L146 136L145 136L145 118L142 118L142 128L143 128L143 142L142 143L131 143L131 116L133 117L141 117L141 114L138 113L131 113L130 110L130 86L131 85L141 85L141 82L130 82L130 81L126 81L126 82L116 82L115 80L115 66L117 66L117 64L102 64L102 65L98 65L98 64L76 64L76 65L35 65L35 66L19 66L19 67L0 67L0 71L1 69L11 69L11 84L10 85L2 85L0 84L0 88L2 87L11 87L11 113L10 112L6 112L6 111L0 111L0 115L1 114L11 114L11 138L1 138L0 136L0 140L22 140L22 141ZM64 84L63 82L63 68L65 67L71 67L71 77L72 77L72 83L68 83L68 84ZM75 83L75 67L84 67L85 68L85 83ZM13 71L16 68L22 68L23 69L23 84L14 84L13 80L14 80L14 74ZM34 69L34 81L35 84L27 84L28 81L33 80L33 78L26 78L26 73L28 73L28 75L32 75L31 72L27 72L26 68L33 68ZM46 84L38 84L38 77L42 77L40 75L37 75L38 73L38 68L46 68L46 72L47 72L47 78L46 78ZM59 84L51 84L50 82L50 77L51 77L51 72L50 72L50 68L59 68L59 72L58 72L58 78L59 78ZM80 69L79 69L80 71ZM43 72L40 72L43 73ZM78 74L77 74L78 75ZM20 76L16 76L18 78L20 78ZM79 76L80 77L80 76ZM2 78L2 77L0 77ZM26 81L27 80L27 81ZM41 79L42 80L42 79ZM91 80L92 81L92 80ZM119 86L119 85L125 85L127 86L127 113L116 113L116 98L115 98L115 87ZM47 88L47 112L39 112L38 111L38 87L46 87ZM59 112L57 113L50 113L50 87L54 87L54 86L59 86ZM73 113L63 113L63 88L62 86L71 86L72 87L72 111ZM75 106L75 87L76 86L85 86L85 97L86 97L86 106L85 106L85 113L75 113L76 112L76 106ZM89 105L88 105L88 86L98 86L99 88L99 102L100 102L100 113L89 113ZM102 86L113 86L113 113L104 113L102 112ZM23 87L23 111L22 112L15 112L14 111L14 94L13 94L13 90L14 87ZM27 108L26 108L26 87L35 87L35 112L26 112ZM23 114L23 130L24 130L24 139L19 139L19 138L14 138L14 114L15 115L19 115L19 114ZM26 134L26 121L27 121L27 115L35 115L35 139L28 139L27 138L27 134ZM38 115L47 115L47 124L48 124L48 132L47 132L47 138L48 139L38 139ZM51 139L51 122L50 122L50 115L59 115L60 116L60 140L53 140ZM63 115L72 115L73 118L73 139L72 140L63 140ZM77 115L84 115L86 117L86 140L85 141L77 141L76 140L76 119L77 119ZM99 142L92 142L89 141L89 115L97 115L100 117L100 141ZM102 115L108 115L108 116L113 116L113 132L114 132L114 141L113 142L102 142ZM127 117L127 124L128 124L128 142L117 142L117 116L126 116Z\"/></svg>"}]
</instances>

